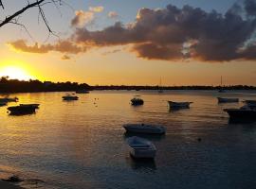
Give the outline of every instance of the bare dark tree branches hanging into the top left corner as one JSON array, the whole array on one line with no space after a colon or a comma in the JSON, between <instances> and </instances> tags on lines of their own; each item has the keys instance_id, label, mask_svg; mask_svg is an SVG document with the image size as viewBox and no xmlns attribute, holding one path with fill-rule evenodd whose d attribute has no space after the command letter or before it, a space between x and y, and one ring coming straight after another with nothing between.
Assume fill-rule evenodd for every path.
<instances>
[{"instance_id":1,"label":"bare dark tree branches hanging into the top left corner","mask_svg":"<svg viewBox=\"0 0 256 189\"><path fill-rule=\"evenodd\" d=\"M11 15L7 16L5 18L5 20L0 21L0 27L5 26L7 24L15 24L15 25L18 25L18 26L23 26L27 30L26 26L24 26L23 24L18 22L17 17L20 16L21 14L23 14L28 9L37 8L38 12L39 12L39 15L43 19L43 21L44 21L44 23L45 23L45 25L48 29L48 32L53 33L50 26L48 25L47 20L46 20L46 15L45 15L44 9L42 9L42 8L46 4L54 4L56 7L58 7L58 6L62 6L63 3L64 3L63 0L35 0L32 3L27 1L27 6L26 7L22 8L22 9L19 9L16 12L13 12ZM3 3L2 0L0 0L0 7L2 7L2 9L5 9L4 3Z\"/></svg>"}]
</instances>

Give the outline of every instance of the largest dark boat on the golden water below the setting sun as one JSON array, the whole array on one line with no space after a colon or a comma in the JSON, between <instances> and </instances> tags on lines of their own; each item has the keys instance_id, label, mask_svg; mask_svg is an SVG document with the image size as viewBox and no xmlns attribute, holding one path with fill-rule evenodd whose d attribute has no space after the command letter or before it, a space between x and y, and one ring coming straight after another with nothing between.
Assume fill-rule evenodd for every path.
<instances>
[{"instance_id":1,"label":"largest dark boat on the golden water below the setting sun","mask_svg":"<svg viewBox=\"0 0 256 189\"><path fill-rule=\"evenodd\" d=\"M10 112L9 114L28 114L35 112L38 106L35 106L35 104L21 104L19 106L8 107L8 110Z\"/></svg>"}]
</instances>

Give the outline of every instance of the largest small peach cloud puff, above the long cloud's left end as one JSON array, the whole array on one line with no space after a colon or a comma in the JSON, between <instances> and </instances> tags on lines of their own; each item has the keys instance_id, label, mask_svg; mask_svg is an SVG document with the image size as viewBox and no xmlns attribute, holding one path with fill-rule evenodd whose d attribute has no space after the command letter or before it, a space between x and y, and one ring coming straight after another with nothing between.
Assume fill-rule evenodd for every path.
<instances>
[{"instance_id":1,"label":"largest small peach cloud puff, above the long cloud's left end","mask_svg":"<svg viewBox=\"0 0 256 189\"><path fill-rule=\"evenodd\" d=\"M71 26L82 27L92 23L94 20L94 12L76 10L75 17L71 20Z\"/></svg>"}]
</instances>

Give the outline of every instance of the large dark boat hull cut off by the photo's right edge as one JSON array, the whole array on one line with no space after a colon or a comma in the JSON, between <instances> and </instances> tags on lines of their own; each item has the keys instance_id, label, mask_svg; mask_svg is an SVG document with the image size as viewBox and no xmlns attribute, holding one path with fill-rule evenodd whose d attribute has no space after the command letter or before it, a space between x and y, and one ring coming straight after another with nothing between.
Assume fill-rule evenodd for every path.
<instances>
[{"instance_id":1,"label":"large dark boat hull cut off by the photo's right edge","mask_svg":"<svg viewBox=\"0 0 256 189\"><path fill-rule=\"evenodd\" d=\"M224 109L224 112L229 113L231 120L255 120L256 121L256 108L251 108L247 105L240 109Z\"/></svg>"}]
</instances>

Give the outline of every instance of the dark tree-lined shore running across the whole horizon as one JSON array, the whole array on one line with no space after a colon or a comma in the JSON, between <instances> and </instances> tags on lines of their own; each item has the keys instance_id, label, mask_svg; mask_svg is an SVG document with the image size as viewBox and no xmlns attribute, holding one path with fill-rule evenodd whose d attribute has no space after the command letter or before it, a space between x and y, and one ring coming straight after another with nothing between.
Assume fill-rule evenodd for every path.
<instances>
[{"instance_id":1,"label":"dark tree-lined shore running across the whole horizon","mask_svg":"<svg viewBox=\"0 0 256 189\"><path fill-rule=\"evenodd\" d=\"M79 90L256 90L256 86L126 86L126 85L96 85L90 86L78 82L51 82L40 80L18 80L0 77L0 93L37 93L37 92L70 92Z\"/></svg>"}]
</instances>

